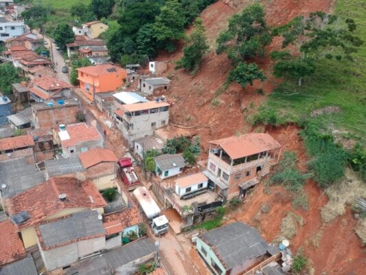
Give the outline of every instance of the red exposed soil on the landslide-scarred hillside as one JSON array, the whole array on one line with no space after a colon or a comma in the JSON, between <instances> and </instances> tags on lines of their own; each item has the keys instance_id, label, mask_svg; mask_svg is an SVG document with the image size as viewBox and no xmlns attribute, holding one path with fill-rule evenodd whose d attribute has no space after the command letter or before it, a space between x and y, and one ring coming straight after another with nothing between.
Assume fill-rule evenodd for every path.
<instances>
[{"instance_id":1,"label":"red exposed soil on the landslide-scarred hillside","mask_svg":"<svg viewBox=\"0 0 366 275\"><path fill-rule=\"evenodd\" d=\"M236 6L233 2L237 3ZM243 110L247 109L246 114L250 115L255 109L253 107L258 107L266 98L256 91L262 89L264 94L270 94L280 81L271 76L272 64L266 56L255 60L268 76L264 83L256 82L253 87L244 89L232 84L227 91L218 96L218 106L213 107L211 104L215 91L225 82L230 69L230 61L225 54L215 54L216 37L226 28L227 19L242 10L246 3L247 1L218 1L203 11L201 17L211 47L196 76L190 76L183 69L174 70L174 62L182 55L181 45L174 54L161 54L157 58L159 61L170 61L166 75L172 76L174 80L166 96L175 103L172 107L171 121L188 127L192 134L200 135L203 151L207 151L208 140L253 131L244 118ZM318 10L330 12L333 0L272 0L262 1L262 4L265 7L268 25L276 26L287 23L301 14L307 15ZM274 39L268 48L279 49L281 42L281 39ZM282 144L284 151L296 151L299 168L306 169L308 156L296 126L266 128L264 131L271 133ZM202 159L205 158L203 155ZM306 182L304 192L308 196L308 210L295 210L292 195L282 186L271 187L271 193L266 195L264 184L260 184L254 188L242 207L228 215L229 220L226 222L240 220L249 223L260 228L266 241L273 241L281 234L279 228L282 219L288 212L293 212L301 216L305 224L297 225L297 234L290 241L291 249L297 251L304 248L315 274L364 274L365 256L361 241L354 233L356 221L352 218L352 212L347 210L341 217L323 225L320 211L327 203L327 197L312 180ZM270 210L259 215L263 203L268 204Z\"/></svg>"}]
</instances>

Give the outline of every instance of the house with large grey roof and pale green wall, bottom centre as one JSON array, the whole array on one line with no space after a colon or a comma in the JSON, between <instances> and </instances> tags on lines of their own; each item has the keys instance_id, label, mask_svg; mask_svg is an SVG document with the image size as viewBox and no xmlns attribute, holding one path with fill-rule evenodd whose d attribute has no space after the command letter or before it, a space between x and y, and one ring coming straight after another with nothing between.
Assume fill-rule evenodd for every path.
<instances>
[{"instance_id":1,"label":"house with large grey roof and pale green wall, bottom centre","mask_svg":"<svg viewBox=\"0 0 366 275\"><path fill-rule=\"evenodd\" d=\"M240 221L201 234L196 249L216 275L246 274L261 263L281 258L277 245L268 245L254 228Z\"/></svg>"}]
</instances>

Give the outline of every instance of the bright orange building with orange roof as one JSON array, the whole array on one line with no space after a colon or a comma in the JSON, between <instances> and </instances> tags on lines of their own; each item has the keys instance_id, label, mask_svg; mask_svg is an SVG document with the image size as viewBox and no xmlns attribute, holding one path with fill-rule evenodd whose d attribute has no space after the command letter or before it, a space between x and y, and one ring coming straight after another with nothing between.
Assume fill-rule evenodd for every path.
<instances>
[{"instance_id":1,"label":"bright orange building with orange roof","mask_svg":"<svg viewBox=\"0 0 366 275\"><path fill-rule=\"evenodd\" d=\"M95 94L115 91L126 78L126 69L110 64L100 64L78 69L80 89L87 98L94 100Z\"/></svg>"}]
</instances>

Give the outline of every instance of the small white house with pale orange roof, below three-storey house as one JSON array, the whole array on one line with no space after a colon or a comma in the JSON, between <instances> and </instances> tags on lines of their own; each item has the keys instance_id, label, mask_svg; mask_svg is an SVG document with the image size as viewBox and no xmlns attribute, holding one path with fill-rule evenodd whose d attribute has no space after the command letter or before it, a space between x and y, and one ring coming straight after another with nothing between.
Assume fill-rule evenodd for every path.
<instances>
[{"instance_id":1,"label":"small white house with pale orange roof, below three-storey house","mask_svg":"<svg viewBox=\"0 0 366 275\"><path fill-rule=\"evenodd\" d=\"M208 178L203 173L181 177L175 181L175 192L179 197L207 188Z\"/></svg>"}]
</instances>

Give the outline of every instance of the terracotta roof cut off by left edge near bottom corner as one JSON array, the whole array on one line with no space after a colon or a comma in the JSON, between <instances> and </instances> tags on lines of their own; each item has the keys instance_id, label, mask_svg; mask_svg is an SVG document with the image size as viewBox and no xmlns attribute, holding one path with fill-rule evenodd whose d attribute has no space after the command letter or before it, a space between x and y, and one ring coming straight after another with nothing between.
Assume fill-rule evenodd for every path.
<instances>
[{"instance_id":1,"label":"terracotta roof cut off by left edge near bottom corner","mask_svg":"<svg viewBox=\"0 0 366 275\"><path fill-rule=\"evenodd\" d=\"M5 265L27 256L21 238L19 238L16 232L16 227L10 220L0 223L0 239L0 265Z\"/></svg>"}]
</instances>

